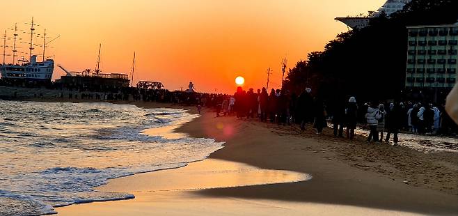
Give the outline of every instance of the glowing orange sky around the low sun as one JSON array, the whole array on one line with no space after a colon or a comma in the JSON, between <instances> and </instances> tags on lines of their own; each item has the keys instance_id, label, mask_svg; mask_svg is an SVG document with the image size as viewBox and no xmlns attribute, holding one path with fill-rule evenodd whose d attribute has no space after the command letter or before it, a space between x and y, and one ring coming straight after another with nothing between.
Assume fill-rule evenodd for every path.
<instances>
[{"instance_id":1,"label":"glowing orange sky around the low sun","mask_svg":"<svg viewBox=\"0 0 458 216\"><path fill-rule=\"evenodd\" d=\"M160 81L175 90L192 81L198 91L232 93L237 75L246 88L264 86L269 67L270 86L280 86L282 58L291 68L347 31L334 17L377 10L385 1L15 0L2 2L12 9L2 10L0 29L25 27L33 16L38 29L61 35L47 54L68 70L95 68L102 43L103 72L130 74L135 51L135 82ZM54 79L63 74L54 68Z\"/></svg>"}]
</instances>

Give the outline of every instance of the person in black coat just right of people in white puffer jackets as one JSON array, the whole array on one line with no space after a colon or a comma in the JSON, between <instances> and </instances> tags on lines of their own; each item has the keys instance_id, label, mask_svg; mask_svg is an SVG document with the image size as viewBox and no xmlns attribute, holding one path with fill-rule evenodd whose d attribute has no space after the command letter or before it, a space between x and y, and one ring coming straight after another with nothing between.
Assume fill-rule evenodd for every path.
<instances>
[{"instance_id":1,"label":"person in black coat just right of people in white puffer jackets","mask_svg":"<svg viewBox=\"0 0 458 216\"><path fill-rule=\"evenodd\" d=\"M400 107L400 105L391 103L386 114L386 129L388 130L385 139L386 142L390 141L390 136L393 133L393 142L397 145L397 133L400 128L402 128L403 121L404 110Z\"/></svg>"}]
</instances>

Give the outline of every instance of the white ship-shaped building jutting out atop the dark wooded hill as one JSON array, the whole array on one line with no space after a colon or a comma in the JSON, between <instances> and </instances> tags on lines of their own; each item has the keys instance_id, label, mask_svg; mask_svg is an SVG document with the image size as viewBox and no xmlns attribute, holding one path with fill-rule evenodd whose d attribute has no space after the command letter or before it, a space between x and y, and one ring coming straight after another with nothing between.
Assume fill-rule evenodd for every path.
<instances>
[{"instance_id":1,"label":"white ship-shaped building jutting out atop the dark wooded hill","mask_svg":"<svg viewBox=\"0 0 458 216\"><path fill-rule=\"evenodd\" d=\"M362 29L369 25L369 22L372 18L378 17L382 13L386 16L390 16L392 13L397 12L398 10L402 10L406 3L409 3L411 0L388 0L384 3L381 8L377 11L369 11L368 16L364 16L361 14L360 16L356 17L336 17L334 20L338 20L343 22L351 29Z\"/></svg>"}]
</instances>

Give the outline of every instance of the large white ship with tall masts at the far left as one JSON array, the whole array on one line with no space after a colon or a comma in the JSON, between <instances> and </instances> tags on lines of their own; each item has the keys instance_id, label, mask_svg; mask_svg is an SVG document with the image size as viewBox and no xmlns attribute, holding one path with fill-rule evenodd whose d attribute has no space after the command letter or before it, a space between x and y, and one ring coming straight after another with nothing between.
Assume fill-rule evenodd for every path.
<instances>
[{"instance_id":1,"label":"large white ship with tall masts at the far left","mask_svg":"<svg viewBox=\"0 0 458 216\"><path fill-rule=\"evenodd\" d=\"M3 35L3 63L0 65L0 75L1 80L4 82L51 82L54 71L54 60L46 58L45 49L56 38L47 42L46 29L42 34L35 33L35 26L37 24L33 22L33 17L30 24L29 59L26 59L24 56L21 59L17 58L18 53L25 54L17 50L17 43L23 43L23 38L18 37L18 32L22 30L17 29L17 24L15 24L14 29L11 29L14 31L13 38L11 38L13 39L13 46L6 43L6 40L10 39L7 38L6 31ZM33 54L33 50L35 49L33 39L35 38L43 38L43 43L39 45L42 47L42 61L38 61L38 56ZM12 48L11 52L13 53L6 54L7 48ZM6 56L12 56L10 63L6 63Z\"/></svg>"}]
</instances>

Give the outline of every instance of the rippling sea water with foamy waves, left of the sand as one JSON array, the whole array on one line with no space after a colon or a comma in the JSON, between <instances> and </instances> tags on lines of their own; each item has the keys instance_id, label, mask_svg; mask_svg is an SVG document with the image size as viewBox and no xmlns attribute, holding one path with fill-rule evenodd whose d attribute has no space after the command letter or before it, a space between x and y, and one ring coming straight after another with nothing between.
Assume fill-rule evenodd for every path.
<instances>
[{"instance_id":1,"label":"rippling sea water with foamy waves, left of the sand","mask_svg":"<svg viewBox=\"0 0 458 216\"><path fill-rule=\"evenodd\" d=\"M42 215L72 203L133 198L94 187L110 178L183 167L222 148L214 139L144 133L195 117L183 109L0 100L0 215Z\"/></svg>"}]
</instances>

